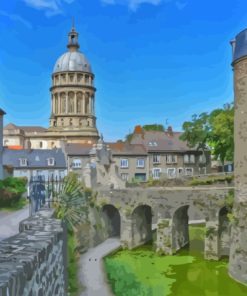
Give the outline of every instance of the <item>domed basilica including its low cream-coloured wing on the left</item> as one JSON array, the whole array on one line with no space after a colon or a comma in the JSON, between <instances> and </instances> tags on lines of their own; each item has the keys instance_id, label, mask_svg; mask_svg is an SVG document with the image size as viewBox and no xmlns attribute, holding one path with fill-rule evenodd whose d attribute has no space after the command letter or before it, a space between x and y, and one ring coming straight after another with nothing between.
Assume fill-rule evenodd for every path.
<instances>
[{"instance_id":1,"label":"domed basilica including its low cream-coloured wing on the left","mask_svg":"<svg viewBox=\"0 0 247 296\"><path fill-rule=\"evenodd\" d=\"M68 51L58 58L52 73L49 128L8 124L4 128L6 146L49 149L60 147L61 141L97 142L95 76L87 58L79 51L74 27L68 38Z\"/></svg>"}]
</instances>

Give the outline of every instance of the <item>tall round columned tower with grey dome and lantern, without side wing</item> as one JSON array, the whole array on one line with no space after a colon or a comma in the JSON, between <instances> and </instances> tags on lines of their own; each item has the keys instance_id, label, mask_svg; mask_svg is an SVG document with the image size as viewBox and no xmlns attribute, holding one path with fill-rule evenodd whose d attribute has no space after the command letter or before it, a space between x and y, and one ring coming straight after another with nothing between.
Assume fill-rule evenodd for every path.
<instances>
[{"instance_id":1,"label":"tall round columned tower with grey dome and lantern, without side wing","mask_svg":"<svg viewBox=\"0 0 247 296\"><path fill-rule=\"evenodd\" d=\"M67 142L97 142L94 73L79 51L79 34L73 24L68 51L58 58L53 74L49 133Z\"/></svg>"}]
</instances>

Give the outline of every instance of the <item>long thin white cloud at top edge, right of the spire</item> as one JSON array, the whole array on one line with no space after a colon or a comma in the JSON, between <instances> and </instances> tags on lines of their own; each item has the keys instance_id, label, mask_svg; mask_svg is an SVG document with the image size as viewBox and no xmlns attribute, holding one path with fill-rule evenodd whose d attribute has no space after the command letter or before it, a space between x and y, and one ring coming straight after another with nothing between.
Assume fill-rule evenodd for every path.
<instances>
[{"instance_id":1,"label":"long thin white cloud at top edge, right of the spire","mask_svg":"<svg viewBox=\"0 0 247 296\"><path fill-rule=\"evenodd\" d=\"M105 5L127 5L130 10L136 11L144 3L158 6L161 3L174 2L174 0L101 0L101 2ZM187 3L180 1L176 1L175 4L178 9L183 9L187 5Z\"/></svg>"}]
</instances>

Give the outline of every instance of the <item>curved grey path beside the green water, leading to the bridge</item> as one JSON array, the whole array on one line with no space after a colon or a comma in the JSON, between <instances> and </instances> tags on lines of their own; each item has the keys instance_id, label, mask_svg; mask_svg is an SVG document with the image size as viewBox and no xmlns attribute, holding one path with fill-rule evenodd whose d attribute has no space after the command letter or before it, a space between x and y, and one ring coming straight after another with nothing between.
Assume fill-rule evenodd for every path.
<instances>
[{"instance_id":1,"label":"curved grey path beside the green water, leading to the bridge","mask_svg":"<svg viewBox=\"0 0 247 296\"><path fill-rule=\"evenodd\" d=\"M86 287L81 296L111 296L103 269L102 258L120 247L119 238L109 238L89 249L80 259L80 281Z\"/></svg>"}]
</instances>

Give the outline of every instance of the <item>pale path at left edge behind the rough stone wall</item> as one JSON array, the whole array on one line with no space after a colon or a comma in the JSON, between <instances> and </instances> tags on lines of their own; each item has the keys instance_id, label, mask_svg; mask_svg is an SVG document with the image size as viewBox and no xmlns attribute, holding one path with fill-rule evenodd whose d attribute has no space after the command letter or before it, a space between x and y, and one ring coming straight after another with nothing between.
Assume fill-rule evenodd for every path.
<instances>
[{"instance_id":1,"label":"pale path at left edge behind the rough stone wall","mask_svg":"<svg viewBox=\"0 0 247 296\"><path fill-rule=\"evenodd\" d=\"M0 240L19 233L19 223L28 216L28 206L16 212L0 211Z\"/></svg>"}]
</instances>

